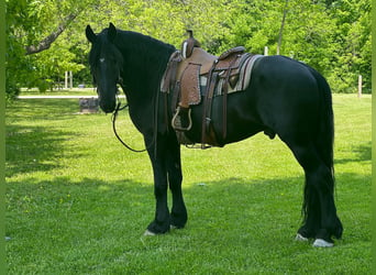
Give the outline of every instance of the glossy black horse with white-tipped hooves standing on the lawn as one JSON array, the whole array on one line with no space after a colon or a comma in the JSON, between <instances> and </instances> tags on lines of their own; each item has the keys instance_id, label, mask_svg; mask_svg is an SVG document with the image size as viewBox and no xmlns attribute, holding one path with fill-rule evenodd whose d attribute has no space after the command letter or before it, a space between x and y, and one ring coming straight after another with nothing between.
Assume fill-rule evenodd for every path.
<instances>
[{"instance_id":1,"label":"glossy black horse with white-tipped hooves standing on the lawn","mask_svg":"<svg viewBox=\"0 0 376 275\"><path fill-rule=\"evenodd\" d=\"M92 44L89 63L100 108L110 113L117 107L118 85L125 92L130 117L143 134L153 165L155 218L146 233L166 233L184 228L187 209L181 193L180 144L170 125L172 94L161 94L161 80L176 48L135 32L120 31L110 23L95 34L88 25L86 36ZM221 96L213 98L213 129L221 133ZM333 189L333 110L327 80L311 67L284 56L265 56L253 68L250 86L228 95L226 135L221 145L237 142L264 131L278 134L302 166L306 175L303 223L298 240L316 239L314 246L332 246L341 238ZM201 142L202 103L192 107L192 128L186 133ZM219 134L221 136L221 134ZM172 210L167 189L173 194Z\"/></svg>"}]
</instances>

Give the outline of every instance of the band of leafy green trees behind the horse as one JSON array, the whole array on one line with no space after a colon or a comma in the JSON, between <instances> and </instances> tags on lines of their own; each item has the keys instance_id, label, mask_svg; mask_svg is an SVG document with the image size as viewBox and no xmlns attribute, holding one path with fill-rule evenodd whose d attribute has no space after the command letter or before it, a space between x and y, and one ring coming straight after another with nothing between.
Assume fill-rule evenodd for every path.
<instances>
[{"instance_id":1,"label":"band of leafy green trees behind the horse","mask_svg":"<svg viewBox=\"0 0 376 275\"><path fill-rule=\"evenodd\" d=\"M371 90L369 0L5 2L8 95L16 95L20 87L44 91L65 70L73 70L80 82L90 82L84 30L90 24L100 31L109 22L177 47L191 29L213 54L237 45L253 53L268 46L269 54L276 54L280 41L279 54L317 68L334 91L354 92L360 74L364 90ZM48 50L26 55L46 42Z\"/></svg>"}]
</instances>

